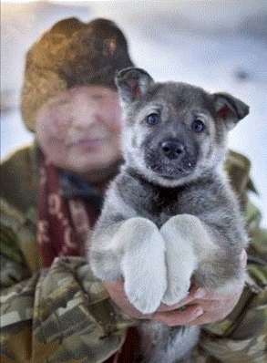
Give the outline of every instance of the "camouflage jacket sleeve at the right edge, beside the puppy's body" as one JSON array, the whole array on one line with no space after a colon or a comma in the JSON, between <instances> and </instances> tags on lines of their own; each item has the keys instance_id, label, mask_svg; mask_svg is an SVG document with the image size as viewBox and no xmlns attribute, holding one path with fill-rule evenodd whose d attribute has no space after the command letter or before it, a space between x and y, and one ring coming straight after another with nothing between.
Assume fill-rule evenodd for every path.
<instances>
[{"instance_id":1,"label":"camouflage jacket sleeve at the right edge, beside the puppy's body","mask_svg":"<svg viewBox=\"0 0 267 363\"><path fill-rule=\"evenodd\" d=\"M221 322L204 326L195 362L267 362L267 230L257 226L259 211L247 210L251 244L241 299Z\"/></svg>"}]
</instances>

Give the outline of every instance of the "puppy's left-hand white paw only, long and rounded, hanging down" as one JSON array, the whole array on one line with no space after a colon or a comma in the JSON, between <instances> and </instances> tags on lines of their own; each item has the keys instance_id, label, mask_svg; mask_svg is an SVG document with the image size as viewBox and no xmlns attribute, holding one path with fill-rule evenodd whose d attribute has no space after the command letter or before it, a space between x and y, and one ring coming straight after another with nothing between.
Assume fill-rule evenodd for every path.
<instances>
[{"instance_id":1,"label":"puppy's left-hand white paw only, long and rounded, hanging down","mask_svg":"<svg viewBox=\"0 0 267 363\"><path fill-rule=\"evenodd\" d=\"M145 218L131 218L123 228L125 292L133 306L150 314L159 307L167 287L164 241L158 227Z\"/></svg>"}]
</instances>

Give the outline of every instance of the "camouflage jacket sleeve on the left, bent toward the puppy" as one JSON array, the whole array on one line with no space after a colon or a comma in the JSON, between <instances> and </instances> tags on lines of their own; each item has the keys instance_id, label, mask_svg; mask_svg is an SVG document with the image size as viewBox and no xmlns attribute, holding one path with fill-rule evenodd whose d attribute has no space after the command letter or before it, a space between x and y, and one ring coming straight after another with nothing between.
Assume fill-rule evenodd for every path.
<instances>
[{"instance_id":1,"label":"camouflage jacket sleeve on the left, bent toward the puppy","mask_svg":"<svg viewBox=\"0 0 267 363\"><path fill-rule=\"evenodd\" d=\"M118 351L134 323L93 275L78 273L86 261L57 258L33 272L23 253L36 254L30 231L1 219L1 362L98 363Z\"/></svg>"}]
</instances>

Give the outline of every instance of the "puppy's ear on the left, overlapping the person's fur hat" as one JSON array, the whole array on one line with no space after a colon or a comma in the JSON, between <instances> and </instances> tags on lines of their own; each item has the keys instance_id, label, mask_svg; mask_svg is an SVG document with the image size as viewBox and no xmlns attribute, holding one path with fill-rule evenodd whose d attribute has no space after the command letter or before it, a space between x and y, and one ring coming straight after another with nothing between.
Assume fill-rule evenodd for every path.
<instances>
[{"instance_id":1,"label":"puppy's ear on the left, overlapping the person's fur hat","mask_svg":"<svg viewBox=\"0 0 267 363\"><path fill-rule=\"evenodd\" d=\"M124 102L131 102L140 99L154 80L144 69L128 67L117 72L115 83L120 98Z\"/></svg>"}]
</instances>

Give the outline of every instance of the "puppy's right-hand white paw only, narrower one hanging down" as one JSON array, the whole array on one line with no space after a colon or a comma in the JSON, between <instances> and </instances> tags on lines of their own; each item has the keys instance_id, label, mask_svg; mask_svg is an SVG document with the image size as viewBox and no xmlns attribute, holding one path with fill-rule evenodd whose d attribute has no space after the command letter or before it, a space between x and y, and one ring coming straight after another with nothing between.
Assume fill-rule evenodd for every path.
<instances>
[{"instance_id":1,"label":"puppy's right-hand white paw only, narrower one hanging down","mask_svg":"<svg viewBox=\"0 0 267 363\"><path fill-rule=\"evenodd\" d=\"M194 243L190 234L184 233L183 216L175 216L160 229L166 244L167 290L162 302L178 303L188 295L190 280L197 265Z\"/></svg>"}]
</instances>

